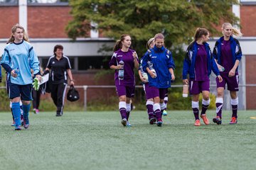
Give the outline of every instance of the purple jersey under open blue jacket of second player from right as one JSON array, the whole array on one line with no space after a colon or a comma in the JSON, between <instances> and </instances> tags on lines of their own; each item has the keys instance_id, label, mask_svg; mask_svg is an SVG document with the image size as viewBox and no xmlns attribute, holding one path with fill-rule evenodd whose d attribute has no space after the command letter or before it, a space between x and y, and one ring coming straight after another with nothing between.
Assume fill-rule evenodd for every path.
<instances>
[{"instance_id":1,"label":"purple jersey under open blue jacket of second player from right","mask_svg":"<svg viewBox=\"0 0 256 170\"><path fill-rule=\"evenodd\" d=\"M196 54L195 79L194 81L209 80L207 70L207 53L204 45L198 44L198 52Z\"/></svg>"}]
</instances>

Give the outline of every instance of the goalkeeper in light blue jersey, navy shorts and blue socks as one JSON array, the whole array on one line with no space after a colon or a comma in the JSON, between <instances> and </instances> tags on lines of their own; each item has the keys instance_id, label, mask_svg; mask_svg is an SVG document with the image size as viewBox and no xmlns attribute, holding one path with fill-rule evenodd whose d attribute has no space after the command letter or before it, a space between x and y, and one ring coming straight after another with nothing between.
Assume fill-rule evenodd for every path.
<instances>
[{"instance_id":1,"label":"goalkeeper in light blue jersey, navy shorts and blue socks","mask_svg":"<svg viewBox=\"0 0 256 170\"><path fill-rule=\"evenodd\" d=\"M33 47L28 42L25 30L22 26L16 24L11 28L11 37L9 38L4 54L0 62L1 66L9 73L9 98L12 102L14 113L15 130L21 130L21 109L19 101L22 101L24 128L28 128L28 111L30 101L32 100L32 76L41 80L39 72L39 62Z\"/></svg>"}]
</instances>

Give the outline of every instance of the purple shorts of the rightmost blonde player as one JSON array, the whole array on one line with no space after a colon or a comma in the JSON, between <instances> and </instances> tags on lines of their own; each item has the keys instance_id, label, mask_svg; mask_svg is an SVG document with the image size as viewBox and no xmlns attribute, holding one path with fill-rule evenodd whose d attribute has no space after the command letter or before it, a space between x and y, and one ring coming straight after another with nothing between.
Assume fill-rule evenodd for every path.
<instances>
[{"instance_id":1,"label":"purple shorts of the rightmost blonde player","mask_svg":"<svg viewBox=\"0 0 256 170\"><path fill-rule=\"evenodd\" d=\"M220 76L223 78L222 82L218 81L218 77L216 77L216 84L218 87L223 87L225 89L225 84L228 85L229 91L239 91L239 75L238 72L235 72L235 76L228 77L228 73L220 72Z\"/></svg>"}]
</instances>

